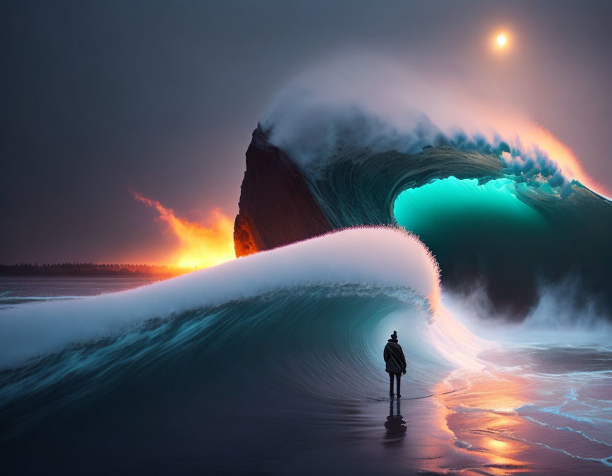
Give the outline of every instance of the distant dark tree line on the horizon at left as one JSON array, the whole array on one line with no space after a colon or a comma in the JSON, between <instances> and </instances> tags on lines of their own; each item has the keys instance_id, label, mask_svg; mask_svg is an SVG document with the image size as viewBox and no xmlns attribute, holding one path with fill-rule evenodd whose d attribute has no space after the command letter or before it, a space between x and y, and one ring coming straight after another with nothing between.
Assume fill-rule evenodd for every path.
<instances>
[{"instance_id":1,"label":"distant dark tree line on the horizon at left","mask_svg":"<svg viewBox=\"0 0 612 476\"><path fill-rule=\"evenodd\" d=\"M0 276L176 276L181 270L151 264L0 264Z\"/></svg>"}]
</instances>

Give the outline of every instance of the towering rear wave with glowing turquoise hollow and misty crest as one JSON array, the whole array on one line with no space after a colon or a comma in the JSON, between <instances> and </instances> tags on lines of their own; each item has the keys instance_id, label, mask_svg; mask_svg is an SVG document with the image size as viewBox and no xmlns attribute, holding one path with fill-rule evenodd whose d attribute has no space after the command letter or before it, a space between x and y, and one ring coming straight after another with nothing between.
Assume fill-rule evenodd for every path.
<instances>
[{"instance_id":1,"label":"towering rear wave with glowing turquoise hollow and misty crest","mask_svg":"<svg viewBox=\"0 0 612 476\"><path fill-rule=\"evenodd\" d=\"M612 203L570 149L504 108L450 94L441 105L401 79L377 87L351 80L298 81L254 132L259 155L249 148L251 175L247 152L241 206L243 198L245 205L257 200L247 179L262 173L258 160L283 169L277 157L287 157L317 210L283 197L297 200L287 224L254 215L251 205L241 208L234 233L246 223L266 249L265 239L286 242L288 229L318 234L309 221L318 212L331 229L406 227L436 256L443 285L458 293L483 287L494 312L511 319L536 307L541 288L568 278L589 299L612 306Z\"/></svg>"}]
</instances>

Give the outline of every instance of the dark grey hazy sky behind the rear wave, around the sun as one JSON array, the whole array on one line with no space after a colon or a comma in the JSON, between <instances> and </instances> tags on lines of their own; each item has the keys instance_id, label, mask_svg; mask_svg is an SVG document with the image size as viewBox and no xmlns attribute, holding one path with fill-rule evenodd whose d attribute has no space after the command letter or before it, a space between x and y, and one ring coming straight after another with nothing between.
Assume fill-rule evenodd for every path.
<instances>
[{"instance_id":1,"label":"dark grey hazy sky behind the rear wave, around the sun","mask_svg":"<svg viewBox=\"0 0 612 476\"><path fill-rule=\"evenodd\" d=\"M303 69L359 50L518 103L612 188L608 2L0 8L0 262L163 259L173 238L127 189L183 215L234 213L266 105ZM484 53L498 26L516 41L505 63Z\"/></svg>"}]
</instances>

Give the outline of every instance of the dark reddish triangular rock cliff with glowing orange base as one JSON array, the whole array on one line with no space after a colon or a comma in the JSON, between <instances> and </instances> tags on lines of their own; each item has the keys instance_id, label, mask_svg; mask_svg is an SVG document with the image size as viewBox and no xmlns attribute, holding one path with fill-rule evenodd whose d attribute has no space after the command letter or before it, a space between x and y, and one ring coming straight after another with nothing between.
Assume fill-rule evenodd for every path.
<instances>
[{"instance_id":1,"label":"dark reddish triangular rock cliff with glowing orange base","mask_svg":"<svg viewBox=\"0 0 612 476\"><path fill-rule=\"evenodd\" d=\"M331 231L300 169L258 126L246 150L246 172L234 222L236 256Z\"/></svg>"}]
</instances>

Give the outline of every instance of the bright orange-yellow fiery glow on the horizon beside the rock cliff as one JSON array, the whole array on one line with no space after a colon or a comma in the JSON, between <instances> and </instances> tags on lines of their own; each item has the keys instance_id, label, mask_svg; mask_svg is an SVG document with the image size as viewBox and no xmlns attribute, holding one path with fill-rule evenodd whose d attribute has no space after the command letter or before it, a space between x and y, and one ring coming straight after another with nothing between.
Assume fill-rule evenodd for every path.
<instances>
[{"instance_id":1,"label":"bright orange-yellow fiery glow on the horizon beside the rock cliff","mask_svg":"<svg viewBox=\"0 0 612 476\"><path fill-rule=\"evenodd\" d=\"M159 212L159 218L169 225L179 238L179 246L169 258L176 268L209 268L236 257L234 253L234 221L219 208L208 212L209 226L177 217L174 210L157 200L132 191L134 198Z\"/></svg>"}]
</instances>

